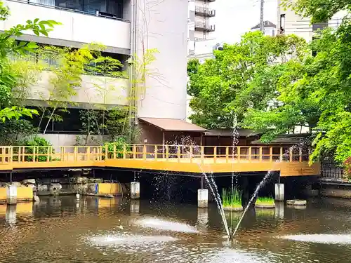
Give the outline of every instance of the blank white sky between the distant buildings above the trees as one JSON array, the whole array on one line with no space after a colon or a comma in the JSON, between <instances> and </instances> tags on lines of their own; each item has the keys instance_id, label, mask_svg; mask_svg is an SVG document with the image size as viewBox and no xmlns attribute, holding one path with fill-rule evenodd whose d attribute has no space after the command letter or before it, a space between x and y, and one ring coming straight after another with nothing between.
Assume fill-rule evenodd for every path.
<instances>
[{"instance_id":1,"label":"blank white sky between the distant buildings above the trees","mask_svg":"<svg viewBox=\"0 0 351 263\"><path fill-rule=\"evenodd\" d=\"M217 42L234 43L260 22L260 0L216 0L214 37ZM277 0L265 0L264 20L277 25Z\"/></svg>"}]
</instances>

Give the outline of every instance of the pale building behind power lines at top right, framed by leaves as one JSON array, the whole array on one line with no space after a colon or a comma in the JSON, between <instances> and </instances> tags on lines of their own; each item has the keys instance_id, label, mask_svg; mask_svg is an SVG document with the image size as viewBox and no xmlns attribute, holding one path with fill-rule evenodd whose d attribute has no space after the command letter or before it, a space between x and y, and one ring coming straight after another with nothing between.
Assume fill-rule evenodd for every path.
<instances>
[{"instance_id":1,"label":"pale building behind power lines at top right, framed by leaves","mask_svg":"<svg viewBox=\"0 0 351 263\"><path fill-rule=\"evenodd\" d=\"M291 9L286 9L281 6L282 0L278 0L277 7L277 31L278 34L296 34L302 37L307 42L312 41L314 32L318 29L324 29L325 27L338 28L341 24L342 18L346 12L340 11L331 18L328 22L316 23L311 25L310 18L304 18L301 15L295 13Z\"/></svg>"}]
</instances>

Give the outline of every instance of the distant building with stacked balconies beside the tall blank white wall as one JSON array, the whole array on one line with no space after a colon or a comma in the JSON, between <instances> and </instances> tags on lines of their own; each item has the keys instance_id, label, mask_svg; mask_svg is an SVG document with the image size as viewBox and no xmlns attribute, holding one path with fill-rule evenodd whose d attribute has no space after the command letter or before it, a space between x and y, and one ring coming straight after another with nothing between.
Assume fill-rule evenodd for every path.
<instances>
[{"instance_id":1,"label":"distant building with stacked balconies beside the tall blank white wall","mask_svg":"<svg viewBox=\"0 0 351 263\"><path fill-rule=\"evenodd\" d=\"M216 25L212 18L216 16L216 0L189 0L188 13L188 55L194 55L196 43L214 39Z\"/></svg>"}]
</instances>

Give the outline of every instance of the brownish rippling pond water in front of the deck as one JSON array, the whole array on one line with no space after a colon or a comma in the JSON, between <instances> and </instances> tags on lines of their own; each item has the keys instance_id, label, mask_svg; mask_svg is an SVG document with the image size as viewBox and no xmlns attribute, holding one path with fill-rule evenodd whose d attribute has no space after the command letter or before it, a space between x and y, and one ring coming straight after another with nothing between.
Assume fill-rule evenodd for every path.
<instances>
[{"instance_id":1,"label":"brownish rippling pond water in front of the deck","mask_svg":"<svg viewBox=\"0 0 351 263\"><path fill-rule=\"evenodd\" d=\"M0 205L0 262L350 262L351 202L250 209L235 241L216 206L47 197ZM238 213L227 218L232 225ZM231 223L229 223L231 224Z\"/></svg>"}]
</instances>

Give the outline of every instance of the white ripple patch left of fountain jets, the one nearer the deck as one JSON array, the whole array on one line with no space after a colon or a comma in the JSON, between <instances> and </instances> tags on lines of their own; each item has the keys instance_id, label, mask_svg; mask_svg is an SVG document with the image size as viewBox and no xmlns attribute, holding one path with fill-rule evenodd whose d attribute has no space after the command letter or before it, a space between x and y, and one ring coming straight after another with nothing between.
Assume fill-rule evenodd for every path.
<instances>
[{"instance_id":1,"label":"white ripple patch left of fountain jets, the one nearer the deck","mask_svg":"<svg viewBox=\"0 0 351 263\"><path fill-rule=\"evenodd\" d=\"M139 224L141 227L150 227L152 229L159 229L164 231L198 233L197 229L190 226L189 224L160 220L158 218L145 218L143 220L138 220L137 224Z\"/></svg>"}]
</instances>

